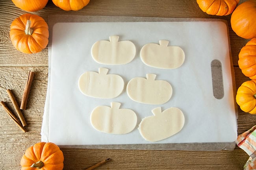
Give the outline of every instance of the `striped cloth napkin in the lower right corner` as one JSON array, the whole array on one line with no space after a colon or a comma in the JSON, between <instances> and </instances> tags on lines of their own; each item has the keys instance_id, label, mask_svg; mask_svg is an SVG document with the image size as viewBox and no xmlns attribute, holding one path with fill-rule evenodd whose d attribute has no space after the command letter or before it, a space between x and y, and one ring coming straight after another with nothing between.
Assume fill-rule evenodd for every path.
<instances>
[{"instance_id":1,"label":"striped cloth napkin in the lower right corner","mask_svg":"<svg viewBox=\"0 0 256 170\"><path fill-rule=\"evenodd\" d=\"M256 125L238 135L236 144L250 156L244 170L256 170Z\"/></svg>"}]
</instances>

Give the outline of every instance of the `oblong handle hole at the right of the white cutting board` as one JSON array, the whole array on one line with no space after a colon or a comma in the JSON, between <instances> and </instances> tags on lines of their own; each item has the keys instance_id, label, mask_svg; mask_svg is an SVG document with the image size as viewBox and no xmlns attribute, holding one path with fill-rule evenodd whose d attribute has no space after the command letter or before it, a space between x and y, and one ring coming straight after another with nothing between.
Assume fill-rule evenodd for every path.
<instances>
[{"instance_id":1,"label":"oblong handle hole at the right of the white cutting board","mask_svg":"<svg viewBox=\"0 0 256 170\"><path fill-rule=\"evenodd\" d=\"M216 99L222 99L224 97L223 75L221 62L217 59L211 61L211 78L213 96Z\"/></svg>"}]
</instances>

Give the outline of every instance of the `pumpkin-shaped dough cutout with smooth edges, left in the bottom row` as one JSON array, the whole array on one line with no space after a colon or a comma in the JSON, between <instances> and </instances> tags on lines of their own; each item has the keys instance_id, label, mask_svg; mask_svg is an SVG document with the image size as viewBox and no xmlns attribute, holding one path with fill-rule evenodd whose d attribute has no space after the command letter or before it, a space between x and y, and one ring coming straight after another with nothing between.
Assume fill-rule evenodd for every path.
<instances>
[{"instance_id":1,"label":"pumpkin-shaped dough cutout with smooth edges, left in the bottom row","mask_svg":"<svg viewBox=\"0 0 256 170\"><path fill-rule=\"evenodd\" d=\"M120 109L121 103L111 102L111 107L98 106L91 113L92 126L101 132L125 134L137 124L137 116L131 109Z\"/></svg>"}]
</instances>

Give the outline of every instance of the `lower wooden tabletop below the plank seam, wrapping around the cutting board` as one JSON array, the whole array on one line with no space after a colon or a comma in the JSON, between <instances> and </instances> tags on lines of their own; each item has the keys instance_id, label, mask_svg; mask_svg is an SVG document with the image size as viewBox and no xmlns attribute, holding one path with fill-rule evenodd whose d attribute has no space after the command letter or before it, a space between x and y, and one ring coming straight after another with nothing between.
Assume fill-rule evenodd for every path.
<instances>
[{"instance_id":1,"label":"lower wooden tabletop below the plank seam, wrapping around the cutting board","mask_svg":"<svg viewBox=\"0 0 256 170\"><path fill-rule=\"evenodd\" d=\"M5 89L13 89L20 103L29 70L35 71L28 109L22 111L28 123L28 132L22 133L0 107L0 169L19 169L19 161L26 148L41 140L41 123L46 97L47 67L0 67L1 100L14 110ZM235 68L237 88L245 77L239 68ZM238 113L238 133L243 133L254 125L253 115ZM98 169L112 170L157 170L157 169L232 169L239 170L248 159L243 150L199 152L199 151L143 151L143 150L94 150L79 148L61 148L65 156L64 170L84 169L92 164L111 157L113 161ZM13 165L14 164L14 165ZM213 166L214 164L214 166Z\"/></svg>"}]
</instances>

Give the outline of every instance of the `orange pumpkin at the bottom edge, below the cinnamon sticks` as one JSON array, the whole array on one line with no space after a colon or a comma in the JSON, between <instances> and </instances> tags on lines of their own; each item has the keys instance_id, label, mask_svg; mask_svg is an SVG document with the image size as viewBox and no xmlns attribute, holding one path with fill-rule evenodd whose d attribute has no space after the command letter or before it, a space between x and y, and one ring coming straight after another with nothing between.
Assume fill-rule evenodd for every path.
<instances>
[{"instance_id":1,"label":"orange pumpkin at the bottom edge, below the cinnamon sticks","mask_svg":"<svg viewBox=\"0 0 256 170\"><path fill-rule=\"evenodd\" d=\"M56 144L39 142L26 150L20 164L21 170L62 170L63 161L63 153Z\"/></svg>"}]
</instances>

